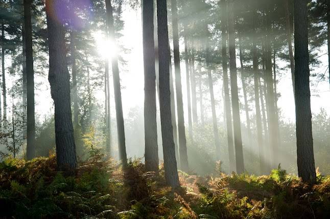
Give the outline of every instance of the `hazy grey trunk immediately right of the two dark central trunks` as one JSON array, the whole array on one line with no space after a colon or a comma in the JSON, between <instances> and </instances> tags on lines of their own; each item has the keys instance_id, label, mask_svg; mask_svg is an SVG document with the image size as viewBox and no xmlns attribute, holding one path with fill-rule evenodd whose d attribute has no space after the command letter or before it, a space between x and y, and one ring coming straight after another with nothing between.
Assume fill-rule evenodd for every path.
<instances>
[{"instance_id":1,"label":"hazy grey trunk immediately right of the two dark central trunks","mask_svg":"<svg viewBox=\"0 0 330 219\"><path fill-rule=\"evenodd\" d=\"M179 151L180 151L180 167L182 170L188 170L188 156L185 139L184 128L184 114L183 114L183 100L181 87L181 72L180 72L180 47L179 47L179 33L178 33L178 14L177 2L171 0L172 8L172 27L173 27L173 51L174 51L174 67L175 67L175 89L176 102L178 111L178 130L179 130ZM159 40L159 39L158 39Z\"/></svg>"}]
</instances>

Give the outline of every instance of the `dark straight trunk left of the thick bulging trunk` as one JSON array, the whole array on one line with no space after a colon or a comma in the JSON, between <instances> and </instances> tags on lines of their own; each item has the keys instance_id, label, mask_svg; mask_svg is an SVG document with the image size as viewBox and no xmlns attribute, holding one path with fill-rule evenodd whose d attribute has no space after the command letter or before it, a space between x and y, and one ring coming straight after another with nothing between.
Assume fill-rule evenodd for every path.
<instances>
[{"instance_id":1,"label":"dark straight trunk left of the thick bulging trunk","mask_svg":"<svg viewBox=\"0 0 330 219\"><path fill-rule=\"evenodd\" d=\"M23 0L27 75L27 159L35 157L34 71L32 49L31 0Z\"/></svg>"}]
</instances>

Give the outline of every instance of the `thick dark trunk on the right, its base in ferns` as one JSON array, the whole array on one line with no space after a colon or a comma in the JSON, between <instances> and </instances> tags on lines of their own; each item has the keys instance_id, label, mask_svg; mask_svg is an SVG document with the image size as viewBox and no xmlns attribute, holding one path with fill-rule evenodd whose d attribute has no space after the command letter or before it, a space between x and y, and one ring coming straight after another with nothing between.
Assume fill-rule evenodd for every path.
<instances>
[{"instance_id":1,"label":"thick dark trunk on the right, its base in ferns","mask_svg":"<svg viewBox=\"0 0 330 219\"><path fill-rule=\"evenodd\" d=\"M294 0L294 60L298 175L304 182L315 183L312 134L308 15L304 0Z\"/></svg>"}]
</instances>

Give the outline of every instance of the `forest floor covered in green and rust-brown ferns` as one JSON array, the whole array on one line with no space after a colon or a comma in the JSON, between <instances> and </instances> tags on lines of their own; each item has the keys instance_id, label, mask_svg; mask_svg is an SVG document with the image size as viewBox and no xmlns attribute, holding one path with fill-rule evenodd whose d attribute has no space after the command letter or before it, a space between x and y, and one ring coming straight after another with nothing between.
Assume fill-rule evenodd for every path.
<instances>
[{"instance_id":1,"label":"forest floor covered in green and rust-brown ferns","mask_svg":"<svg viewBox=\"0 0 330 219\"><path fill-rule=\"evenodd\" d=\"M125 173L96 154L72 174L56 158L0 163L0 218L330 218L330 177L313 186L278 168L269 176L200 177L179 171L181 188L130 160Z\"/></svg>"}]
</instances>

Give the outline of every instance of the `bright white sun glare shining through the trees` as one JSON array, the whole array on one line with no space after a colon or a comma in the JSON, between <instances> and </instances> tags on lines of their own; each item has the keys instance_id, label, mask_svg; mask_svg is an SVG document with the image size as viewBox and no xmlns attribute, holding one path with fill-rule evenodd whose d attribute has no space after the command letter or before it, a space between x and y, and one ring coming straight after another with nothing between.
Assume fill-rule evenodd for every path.
<instances>
[{"instance_id":1,"label":"bright white sun glare shining through the trees","mask_svg":"<svg viewBox=\"0 0 330 219\"><path fill-rule=\"evenodd\" d=\"M112 59L118 54L118 47L113 40L106 39L104 33L101 31L93 34L96 41L97 50L103 59Z\"/></svg>"}]
</instances>

